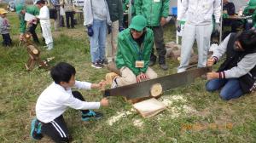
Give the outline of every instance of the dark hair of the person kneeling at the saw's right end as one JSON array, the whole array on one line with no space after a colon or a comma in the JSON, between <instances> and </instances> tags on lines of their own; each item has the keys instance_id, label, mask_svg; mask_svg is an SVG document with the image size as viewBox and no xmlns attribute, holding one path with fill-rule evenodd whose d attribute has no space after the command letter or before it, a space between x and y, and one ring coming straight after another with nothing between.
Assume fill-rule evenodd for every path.
<instances>
[{"instance_id":1,"label":"dark hair of the person kneeling at the saw's right end","mask_svg":"<svg viewBox=\"0 0 256 143\"><path fill-rule=\"evenodd\" d=\"M245 52L253 52L256 50L256 32L253 30L242 31L238 34L237 39L241 43Z\"/></svg>"}]
</instances>

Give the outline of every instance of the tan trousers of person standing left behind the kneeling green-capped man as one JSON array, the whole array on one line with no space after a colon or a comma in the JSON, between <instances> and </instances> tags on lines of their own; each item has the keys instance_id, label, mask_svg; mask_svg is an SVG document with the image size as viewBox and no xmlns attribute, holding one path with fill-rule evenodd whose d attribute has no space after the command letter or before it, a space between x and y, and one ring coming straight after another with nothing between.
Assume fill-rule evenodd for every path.
<instances>
[{"instance_id":1,"label":"tan trousers of person standing left behind the kneeling green-capped man","mask_svg":"<svg viewBox=\"0 0 256 143\"><path fill-rule=\"evenodd\" d=\"M118 34L119 20L112 23L112 32L110 34L107 33L106 54L108 61L112 61L115 58L117 51Z\"/></svg>"}]
</instances>

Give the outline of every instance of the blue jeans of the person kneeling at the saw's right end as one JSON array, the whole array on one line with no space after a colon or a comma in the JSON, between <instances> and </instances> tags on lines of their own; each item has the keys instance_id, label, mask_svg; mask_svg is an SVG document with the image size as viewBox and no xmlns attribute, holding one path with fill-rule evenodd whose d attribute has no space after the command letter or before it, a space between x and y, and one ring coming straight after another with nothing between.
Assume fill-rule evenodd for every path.
<instances>
[{"instance_id":1,"label":"blue jeans of the person kneeling at the saw's right end","mask_svg":"<svg viewBox=\"0 0 256 143\"><path fill-rule=\"evenodd\" d=\"M206 89L210 92L221 89L220 97L223 100L231 100L243 95L238 78L212 79L207 82Z\"/></svg>"}]
</instances>

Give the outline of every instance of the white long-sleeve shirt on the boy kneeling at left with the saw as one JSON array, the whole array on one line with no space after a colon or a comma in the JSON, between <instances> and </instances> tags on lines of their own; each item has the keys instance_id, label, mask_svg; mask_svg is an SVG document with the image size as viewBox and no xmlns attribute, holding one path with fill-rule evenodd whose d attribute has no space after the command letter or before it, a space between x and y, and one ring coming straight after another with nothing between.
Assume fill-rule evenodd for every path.
<instances>
[{"instance_id":1,"label":"white long-sleeve shirt on the boy kneeling at left with the saw","mask_svg":"<svg viewBox=\"0 0 256 143\"><path fill-rule=\"evenodd\" d=\"M91 83L76 81L75 88L90 89ZM71 89L64 89L61 85L51 83L38 97L36 115L39 121L49 123L61 116L67 107L77 110L99 109L100 102L86 102L73 97Z\"/></svg>"}]
</instances>

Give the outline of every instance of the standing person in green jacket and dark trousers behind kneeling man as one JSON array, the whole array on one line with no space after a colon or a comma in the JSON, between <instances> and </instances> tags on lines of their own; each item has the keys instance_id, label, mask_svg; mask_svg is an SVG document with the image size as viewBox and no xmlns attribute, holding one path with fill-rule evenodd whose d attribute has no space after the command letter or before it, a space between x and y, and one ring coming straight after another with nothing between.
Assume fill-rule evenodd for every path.
<instances>
[{"instance_id":1,"label":"standing person in green jacket and dark trousers behind kneeling man","mask_svg":"<svg viewBox=\"0 0 256 143\"><path fill-rule=\"evenodd\" d=\"M163 27L169 15L170 0L134 0L136 14L143 14L147 19L147 26L154 31L154 44L159 54L159 65L163 70L167 70L166 46L164 43ZM156 61L154 49L152 50L149 66L153 66Z\"/></svg>"}]
</instances>

